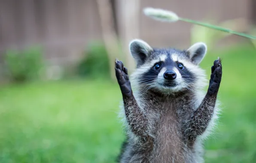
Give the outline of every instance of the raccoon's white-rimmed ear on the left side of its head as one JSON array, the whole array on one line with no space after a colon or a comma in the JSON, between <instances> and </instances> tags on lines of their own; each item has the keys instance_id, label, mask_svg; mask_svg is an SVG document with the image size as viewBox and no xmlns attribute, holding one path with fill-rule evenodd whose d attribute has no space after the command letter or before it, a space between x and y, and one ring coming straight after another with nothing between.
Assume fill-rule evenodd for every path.
<instances>
[{"instance_id":1,"label":"raccoon's white-rimmed ear on the left side of its head","mask_svg":"<svg viewBox=\"0 0 256 163\"><path fill-rule=\"evenodd\" d=\"M150 52L153 50L149 44L141 39L134 39L129 45L131 55L137 63L137 66L142 65L146 58L149 57Z\"/></svg>"}]
</instances>

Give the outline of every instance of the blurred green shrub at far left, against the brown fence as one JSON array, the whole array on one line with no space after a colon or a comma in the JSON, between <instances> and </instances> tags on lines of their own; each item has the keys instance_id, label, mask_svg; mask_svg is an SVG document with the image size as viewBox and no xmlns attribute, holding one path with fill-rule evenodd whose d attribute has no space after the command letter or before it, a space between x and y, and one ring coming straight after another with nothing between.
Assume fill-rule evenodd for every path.
<instances>
[{"instance_id":1,"label":"blurred green shrub at far left, against the brown fence","mask_svg":"<svg viewBox=\"0 0 256 163\"><path fill-rule=\"evenodd\" d=\"M25 82L38 78L43 66L42 59L42 52L38 47L23 51L9 50L5 56L7 75L13 82Z\"/></svg>"}]
</instances>

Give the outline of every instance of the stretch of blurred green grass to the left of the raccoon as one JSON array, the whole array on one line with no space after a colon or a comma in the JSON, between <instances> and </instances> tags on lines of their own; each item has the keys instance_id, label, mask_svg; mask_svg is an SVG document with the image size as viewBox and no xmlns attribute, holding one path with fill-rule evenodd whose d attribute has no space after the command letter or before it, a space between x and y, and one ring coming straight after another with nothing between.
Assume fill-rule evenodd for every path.
<instances>
[{"instance_id":1,"label":"stretch of blurred green grass to the left of the raccoon","mask_svg":"<svg viewBox=\"0 0 256 163\"><path fill-rule=\"evenodd\" d=\"M113 162L122 142L120 93L110 82L0 89L1 163Z\"/></svg>"}]
</instances>

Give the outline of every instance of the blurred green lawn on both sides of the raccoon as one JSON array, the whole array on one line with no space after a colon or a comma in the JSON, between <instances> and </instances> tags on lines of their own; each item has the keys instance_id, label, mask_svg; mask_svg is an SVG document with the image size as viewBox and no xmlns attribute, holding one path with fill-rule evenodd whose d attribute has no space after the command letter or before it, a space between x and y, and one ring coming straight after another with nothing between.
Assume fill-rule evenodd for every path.
<instances>
[{"instance_id":1,"label":"blurred green lawn on both sides of the raccoon","mask_svg":"<svg viewBox=\"0 0 256 163\"><path fill-rule=\"evenodd\" d=\"M222 115L205 143L207 163L256 162L256 51L222 57ZM117 118L119 86L102 80L35 82L0 88L0 163L113 163L124 133Z\"/></svg>"}]
</instances>

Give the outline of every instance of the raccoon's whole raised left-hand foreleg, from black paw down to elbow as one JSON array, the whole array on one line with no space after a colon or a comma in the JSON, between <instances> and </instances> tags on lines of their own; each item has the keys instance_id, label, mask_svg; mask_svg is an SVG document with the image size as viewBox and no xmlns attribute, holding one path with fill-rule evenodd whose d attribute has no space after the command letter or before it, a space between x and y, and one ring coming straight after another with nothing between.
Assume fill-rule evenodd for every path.
<instances>
[{"instance_id":1,"label":"raccoon's whole raised left-hand foreleg, from black paw down to elbow","mask_svg":"<svg viewBox=\"0 0 256 163\"><path fill-rule=\"evenodd\" d=\"M146 128L148 123L143 111L138 106L138 103L132 93L128 70L119 60L116 60L115 69L116 78L122 92L125 107L125 117L128 125L135 135L145 139L147 138Z\"/></svg>"}]
</instances>

